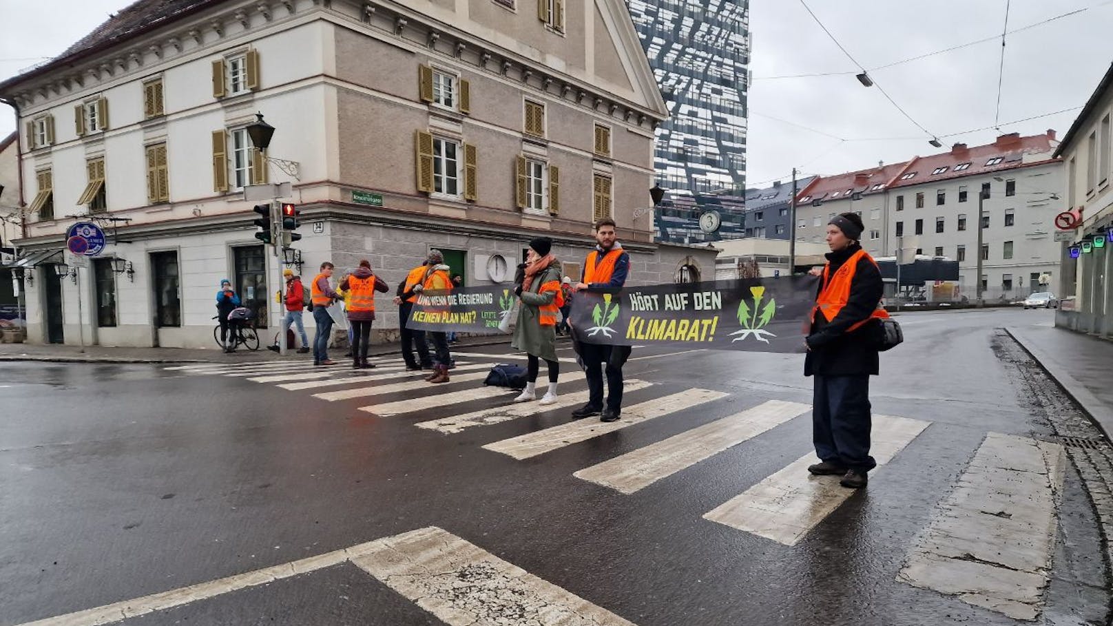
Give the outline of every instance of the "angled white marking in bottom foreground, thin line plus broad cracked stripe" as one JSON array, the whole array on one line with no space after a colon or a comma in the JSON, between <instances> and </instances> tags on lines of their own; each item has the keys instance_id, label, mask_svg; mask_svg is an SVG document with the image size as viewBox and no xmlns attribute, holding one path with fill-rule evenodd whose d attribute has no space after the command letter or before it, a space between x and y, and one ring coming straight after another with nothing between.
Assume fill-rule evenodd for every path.
<instances>
[{"instance_id":1,"label":"angled white marking in bottom foreground, thin line plus broad cracked stripe","mask_svg":"<svg viewBox=\"0 0 1113 626\"><path fill-rule=\"evenodd\" d=\"M450 626L634 626L436 527L20 626L102 626L351 561Z\"/></svg>"}]
</instances>

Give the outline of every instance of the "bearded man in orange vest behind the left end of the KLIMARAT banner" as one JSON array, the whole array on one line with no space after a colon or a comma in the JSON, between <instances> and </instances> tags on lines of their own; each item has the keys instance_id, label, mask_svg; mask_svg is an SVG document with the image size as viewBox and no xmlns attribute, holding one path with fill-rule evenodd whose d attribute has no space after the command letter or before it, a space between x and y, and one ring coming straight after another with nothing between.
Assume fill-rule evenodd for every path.
<instances>
[{"instance_id":1,"label":"bearded man in orange vest behind the left end of the KLIMARAT banner","mask_svg":"<svg viewBox=\"0 0 1113 626\"><path fill-rule=\"evenodd\" d=\"M622 251L614 233L614 221L600 219L595 223L595 250L588 253L583 264L583 276L572 286L573 297L600 297L604 293L619 293L630 273L630 255ZM630 358L629 345L605 345L577 340L577 329L572 338L579 348L583 370L588 376L588 403L572 411L572 418L602 415L600 421L613 422L622 412L622 365ZM603 407L603 372L607 364L607 405Z\"/></svg>"}]
</instances>

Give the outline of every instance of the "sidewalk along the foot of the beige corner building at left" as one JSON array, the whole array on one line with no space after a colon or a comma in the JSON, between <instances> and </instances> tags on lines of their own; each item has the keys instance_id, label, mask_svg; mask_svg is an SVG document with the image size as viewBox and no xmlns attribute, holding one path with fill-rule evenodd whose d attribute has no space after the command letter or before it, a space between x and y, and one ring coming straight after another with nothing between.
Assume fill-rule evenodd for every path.
<instances>
[{"instance_id":1,"label":"sidewalk along the foot of the beige corner building at left","mask_svg":"<svg viewBox=\"0 0 1113 626\"><path fill-rule=\"evenodd\" d=\"M464 350L473 346L510 344L509 335L487 335L461 339L457 343L451 344L452 350ZM334 360L343 360L339 355L346 349L329 349L329 355ZM401 354L402 344L397 342L373 344L367 351L368 356L382 356L384 354ZM105 348L100 345L87 345L85 352L76 345L58 344L29 344L29 343L0 343L0 361L55 361L70 363L236 363L248 361L282 361L282 360L306 360L312 358L308 354L298 354L290 351L286 356L279 356L277 352L272 352L266 348L250 351L244 348L236 350L232 354L225 354L217 348L188 349L188 348Z\"/></svg>"}]
</instances>

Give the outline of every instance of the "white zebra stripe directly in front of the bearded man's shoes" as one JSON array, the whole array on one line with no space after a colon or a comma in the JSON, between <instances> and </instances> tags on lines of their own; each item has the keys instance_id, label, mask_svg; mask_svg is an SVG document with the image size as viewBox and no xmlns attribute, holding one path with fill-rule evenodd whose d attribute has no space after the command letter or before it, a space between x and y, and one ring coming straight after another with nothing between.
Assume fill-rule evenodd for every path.
<instances>
[{"instance_id":1,"label":"white zebra stripe directly in front of the bearded man's shoes","mask_svg":"<svg viewBox=\"0 0 1113 626\"><path fill-rule=\"evenodd\" d=\"M650 400L622 409L622 419L617 422L601 422L598 419L584 419L569 422L544 430L529 432L511 439L487 443L483 448L493 452L513 457L518 460L529 459L558 448L587 441L600 434L614 432L661 415L705 404L728 394L710 389L690 389L671 395Z\"/></svg>"}]
</instances>

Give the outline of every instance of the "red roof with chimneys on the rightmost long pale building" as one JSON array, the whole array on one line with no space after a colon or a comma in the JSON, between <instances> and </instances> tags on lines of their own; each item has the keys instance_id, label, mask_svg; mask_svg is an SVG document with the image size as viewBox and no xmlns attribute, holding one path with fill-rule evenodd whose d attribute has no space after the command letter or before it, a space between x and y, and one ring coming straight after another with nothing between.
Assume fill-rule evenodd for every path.
<instances>
[{"instance_id":1,"label":"red roof with chimneys on the rightmost long pale building","mask_svg":"<svg viewBox=\"0 0 1113 626\"><path fill-rule=\"evenodd\" d=\"M907 180L898 178L893 183L893 187L908 187L910 185L923 185L936 180L948 180L975 174L985 174L1001 169L1012 169L1022 164L1026 154L1046 154L1051 158L1051 153L1057 145L1055 143L1054 130L1048 130L1045 135L1033 135L1021 137L1018 133L1002 135L993 144L985 146L967 147L965 144L955 144L949 151L918 157L913 159L908 172L916 173L916 176ZM1001 158L994 165L988 165ZM955 167L969 164L964 169L955 170ZM945 168L945 169L943 169ZM933 174L936 169L943 169L938 174Z\"/></svg>"}]
</instances>

